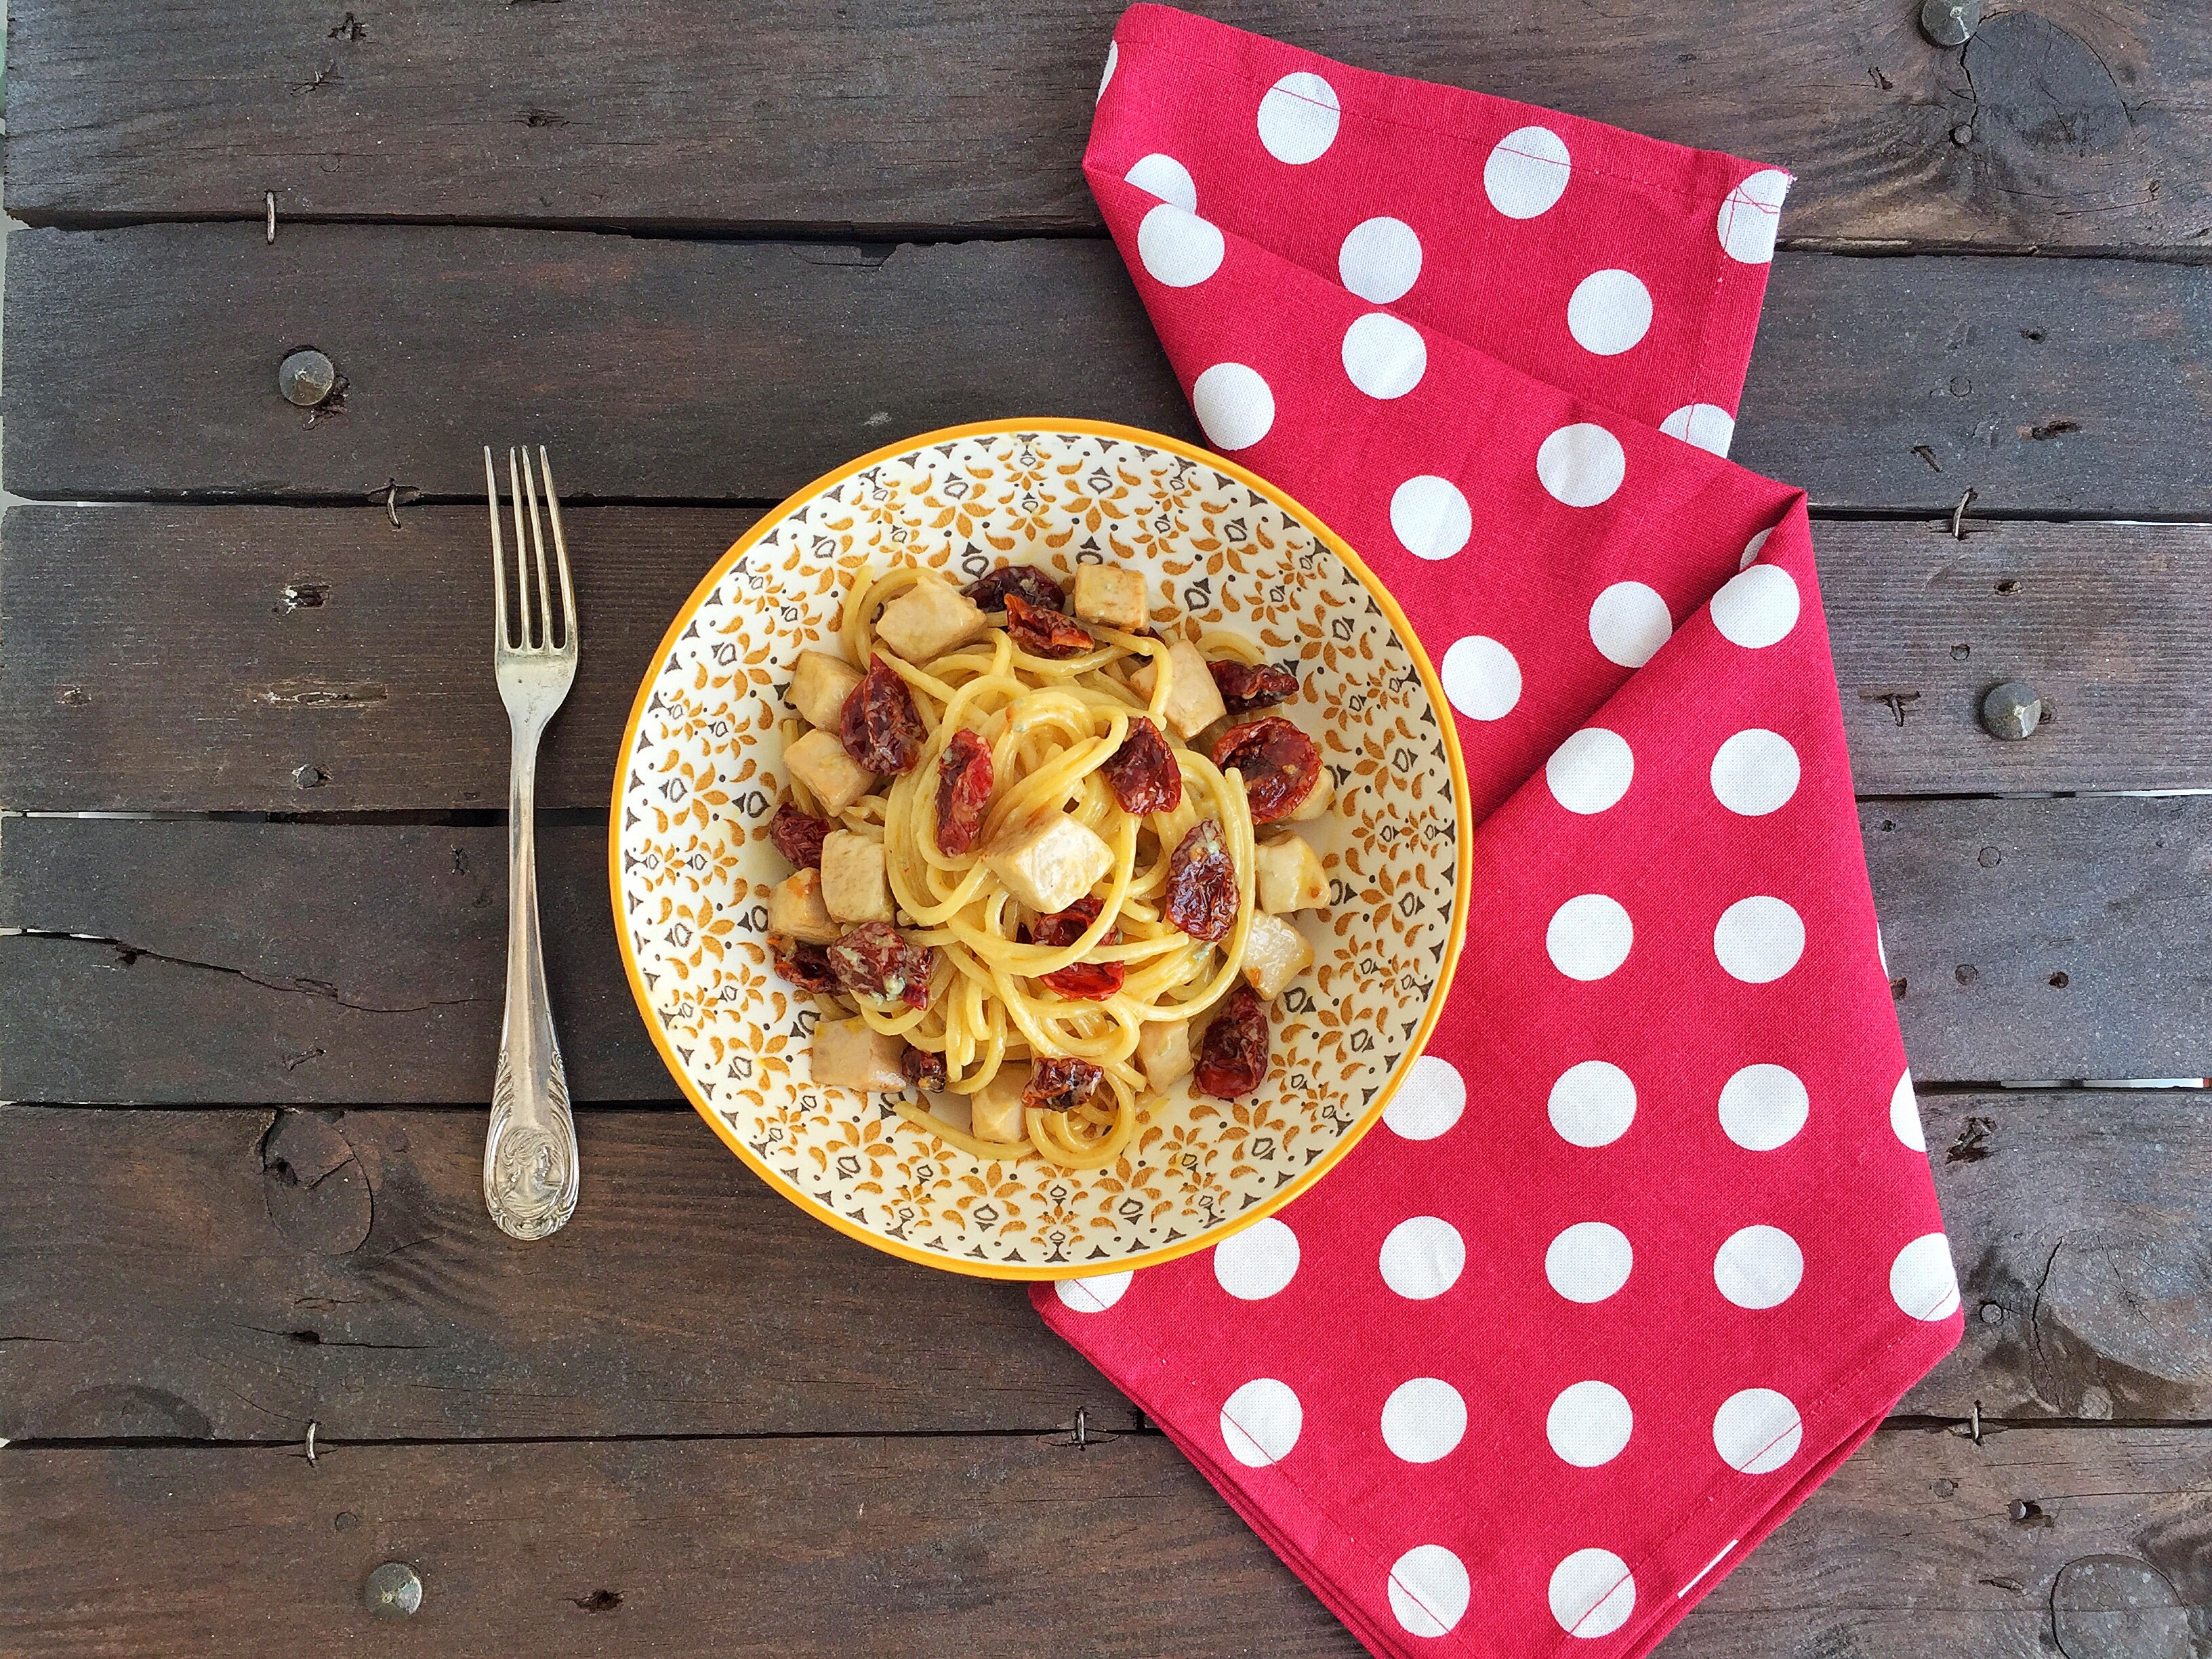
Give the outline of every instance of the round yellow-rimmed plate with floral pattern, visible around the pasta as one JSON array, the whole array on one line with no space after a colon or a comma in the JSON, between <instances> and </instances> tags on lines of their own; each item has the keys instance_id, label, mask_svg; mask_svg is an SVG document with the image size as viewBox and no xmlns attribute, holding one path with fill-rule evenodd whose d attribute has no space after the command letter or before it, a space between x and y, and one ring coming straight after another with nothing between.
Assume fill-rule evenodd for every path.
<instances>
[{"instance_id":1,"label":"round yellow-rimmed plate with floral pattern, visible around the pasta","mask_svg":"<svg viewBox=\"0 0 2212 1659\"><path fill-rule=\"evenodd\" d=\"M1113 1168L978 1161L878 1097L807 1073L812 1000L768 964L779 719L799 653L834 639L867 564L964 582L1000 560L1146 573L1157 606L1296 659L1296 719L1336 776L1303 832L1334 902L1274 1004L1248 1102L1177 1088ZM1128 427L995 422L878 449L763 518L668 626L615 776L608 874L630 989L668 1071L792 1203L880 1250L993 1279L1066 1279L1199 1250L1287 1203L1383 1115L1460 951L1467 774L1436 670L1349 546L1272 484Z\"/></svg>"}]
</instances>

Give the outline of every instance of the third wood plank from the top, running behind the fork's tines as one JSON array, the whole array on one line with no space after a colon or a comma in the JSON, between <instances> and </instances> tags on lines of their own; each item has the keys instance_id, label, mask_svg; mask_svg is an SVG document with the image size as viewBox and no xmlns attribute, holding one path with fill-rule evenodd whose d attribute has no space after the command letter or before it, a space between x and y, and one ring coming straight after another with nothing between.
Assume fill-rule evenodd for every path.
<instances>
[{"instance_id":1,"label":"third wood plank from the top, running behind the fork's tines","mask_svg":"<svg viewBox=\"0 0 2212 1659\"><path fill-rule=\"evenodd\" d=\"M577 509L586 650L538 799L606 801L639 675L750 511ZM482 513L20 507L0 533L0 803L27 812L498 805ZM2212 783L2212 531L1816 529L1863 794ZM2046 699L2028 743L1975 708ZM1898 701L1887 701L1896 697ZM1902 721L1900 721L1902 712Z\"/></svg>"}]
</instances>

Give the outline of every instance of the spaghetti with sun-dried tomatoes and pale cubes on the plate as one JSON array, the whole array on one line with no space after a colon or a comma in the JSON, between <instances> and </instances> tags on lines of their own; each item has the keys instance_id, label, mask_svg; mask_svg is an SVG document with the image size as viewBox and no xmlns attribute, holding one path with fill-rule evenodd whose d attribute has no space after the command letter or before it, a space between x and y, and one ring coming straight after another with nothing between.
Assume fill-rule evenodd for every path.
<instances>
[{"instance_id":1,"label":"spaghetti with sun-dried tomatoes and pale cubes on the plate","mask_svg":"<svg viewBox=\"0 0 2212 1659\"><path fill-rule=\"evenodd\" d=\"M1314 962L1296 911L1329 902L1290 830L1334 799L1274 712L1296 692L1250 641L1155 619L1135 568L865 573L792 670L768 827L814 1082L1064 1168L1119 1159L1170 1088L1256 1093Z\"/></svg>"}]
</instances>

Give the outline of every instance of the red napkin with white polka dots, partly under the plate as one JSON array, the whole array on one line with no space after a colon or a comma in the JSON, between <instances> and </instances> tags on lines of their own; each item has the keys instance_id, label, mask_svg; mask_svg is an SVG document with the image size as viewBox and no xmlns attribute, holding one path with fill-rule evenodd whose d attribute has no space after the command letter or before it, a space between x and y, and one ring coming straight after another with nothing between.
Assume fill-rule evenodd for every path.
<instances>
[{"instance_id":1,"label":"red napkin with white polka dots, partly under the plate","mask_svg":"<svg viewBox=\"0 0 2212 1659\"><path fill-rule=\"evenodd\" d=\"M1639 1655L1958 1340L1805 500L1787 175L1137 7L1091 186L1210 442L1398 595L1467 949L1310 1194L1037 1307L1378 1655Z\"/></svg>"}]
</instances>

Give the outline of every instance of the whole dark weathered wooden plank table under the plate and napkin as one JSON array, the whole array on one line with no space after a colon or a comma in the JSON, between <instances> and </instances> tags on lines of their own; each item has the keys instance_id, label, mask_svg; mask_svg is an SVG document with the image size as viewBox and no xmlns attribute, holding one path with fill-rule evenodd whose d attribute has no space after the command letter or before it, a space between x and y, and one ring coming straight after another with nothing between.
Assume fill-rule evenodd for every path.
<instances>
[{"instance_id":1,"label":"whole dark weathered wooden plank table under the plate and napkin","mask_svg":"<svg viewBox=\"0 0 2212 1659\"><path fill-rule=\"evenodd\" d=\"M2212 801L2128 794L2212 783L2212 18L1989 4L1964 53L1911 0L1212 7L1798 173L1736 456L1818 504L1966 1340L1672 1655L2212 1632L2205 1095L2000 1086L2212 1071ZM953 420L1192 434L1077 173L1115 4L13 13L0 1646L1354 1652L1015 1287L730 1159L606 914L630 688L765 504ZM542 1245L478 1194L478 447L524 438L588 633ZM2011 677L2024 743L1975 726Z\"/></svg>"}]
</instances>

